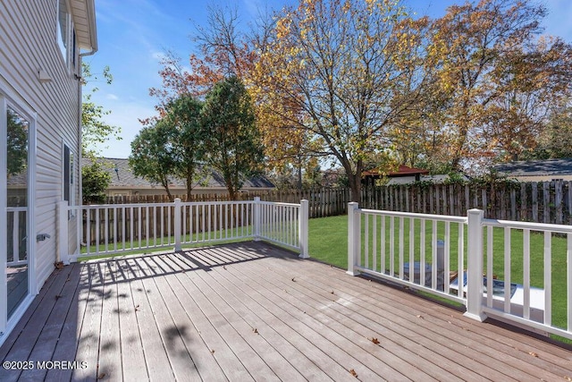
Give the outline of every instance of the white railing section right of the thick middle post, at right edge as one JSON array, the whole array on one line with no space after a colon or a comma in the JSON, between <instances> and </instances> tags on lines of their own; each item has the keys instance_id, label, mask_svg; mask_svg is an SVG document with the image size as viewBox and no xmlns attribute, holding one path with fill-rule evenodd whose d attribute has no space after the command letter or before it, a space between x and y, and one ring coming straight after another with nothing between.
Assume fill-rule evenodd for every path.
<instances>
[{"instance_id":1,"label":"white railing section right of the thick middle post, at right edge","mask_svg":"<svg viewBox=\"0 0 572 382\"><path fill-rule=\"evenodd\" d=\"M572 226L482 219L481 229L484 313L572 338Z\"/></svg>"}]
</instances>

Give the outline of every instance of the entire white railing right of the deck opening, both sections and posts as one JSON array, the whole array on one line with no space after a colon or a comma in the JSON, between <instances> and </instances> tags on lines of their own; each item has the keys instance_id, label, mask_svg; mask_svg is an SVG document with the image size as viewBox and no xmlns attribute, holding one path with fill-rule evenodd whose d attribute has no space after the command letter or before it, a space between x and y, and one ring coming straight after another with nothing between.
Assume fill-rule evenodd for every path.
<instances>
[{"instance_id":1,"label":"entire white railing right of the deck opening, both sections and posts","mask_svg":"<svg viewBox=\"0 0 572 382\"><path fill-rule=\"evenodd\" d=\"M350 275L463 303L470 318L572 338L572 226L484 219L478 209L441 216L357 203L349 203L348 220Z\"/></svg>"}]
</instances>

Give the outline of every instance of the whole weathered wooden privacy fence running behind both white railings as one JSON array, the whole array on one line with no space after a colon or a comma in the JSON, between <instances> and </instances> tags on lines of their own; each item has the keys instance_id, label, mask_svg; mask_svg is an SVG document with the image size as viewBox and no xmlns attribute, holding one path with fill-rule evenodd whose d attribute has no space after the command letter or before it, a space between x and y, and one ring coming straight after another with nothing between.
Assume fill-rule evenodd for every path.
<instances>
[{"instance_id":1,"label":"whole weathered wooden privacy fence running behind both white railings","mask_svg":"<svg viewBox=\"0 0 572 382\"><path fill-rule=\"evenodd\" d=\"M227 194L198 194L182 201L226 201ZM254 197L283 203L309 202L310 217L344 215L351 198L349 188L241 192L240 199ZM108 204L168 202L166 195L110 197ZM572 225L572 182L538 183L413 183L364 187L360 206L387 211L465 216L467 209L484 210L492 219Z\"/></svg>"}]
</instances>

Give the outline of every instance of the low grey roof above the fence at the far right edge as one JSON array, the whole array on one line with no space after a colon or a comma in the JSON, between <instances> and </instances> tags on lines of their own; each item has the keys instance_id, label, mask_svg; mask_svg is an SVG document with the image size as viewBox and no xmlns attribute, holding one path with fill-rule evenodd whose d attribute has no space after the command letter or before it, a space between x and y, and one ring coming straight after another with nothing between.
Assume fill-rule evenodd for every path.
<instances>
[{"instance_id":1,"label":"low grey roof above the fence at the far right edge","mask_svg":"<svg viewBox=\"0 0 572 382\"><path fill-rule=\"evenodd\" d=\"M572 158L544 159L503 163L494 169L505 176L572 175Z\"/></svg>"}]
</instances>

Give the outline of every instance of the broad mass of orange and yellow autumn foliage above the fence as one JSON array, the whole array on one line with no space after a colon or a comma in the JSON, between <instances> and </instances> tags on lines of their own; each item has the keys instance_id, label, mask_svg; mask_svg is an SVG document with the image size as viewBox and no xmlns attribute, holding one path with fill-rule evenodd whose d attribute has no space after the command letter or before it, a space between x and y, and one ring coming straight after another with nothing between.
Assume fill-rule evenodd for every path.
<instances>
[{"instance_id":1,"label":"broad mass of orange and yellow autumn foliage above the fence","mask_svg":"<svg viewBox=\"0 0 572 382\"><path fill-rule=\"evenodd\" d=\"M250 32L236 11L209 14L198 55L165 55L158 109L236 77L267 170L340 166L355 200L372 167L526 156L570 99L572 48L542 35L546 9L528 0L452 5L435 20L399 0L299 0Z\"/></svg>"}]
</instances>

